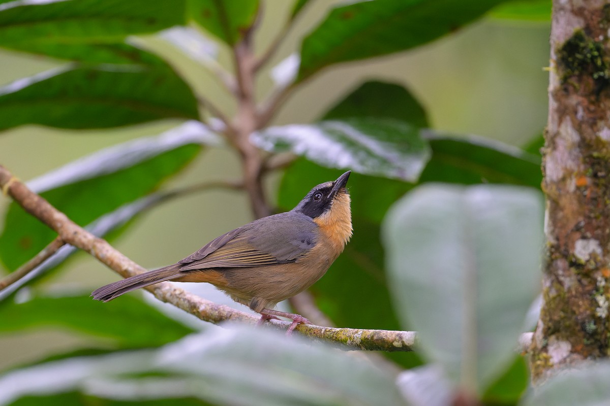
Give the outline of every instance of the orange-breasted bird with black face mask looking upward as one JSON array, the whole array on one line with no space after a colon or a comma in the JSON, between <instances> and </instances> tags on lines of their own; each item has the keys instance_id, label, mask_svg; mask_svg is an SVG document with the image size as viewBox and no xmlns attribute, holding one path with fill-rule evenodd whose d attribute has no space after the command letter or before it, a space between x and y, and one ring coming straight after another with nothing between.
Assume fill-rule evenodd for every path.
<instances>
[{"instance_id":1,"label":"orange-breasted bird with black face mask looking upward","mask_svg":"<svg viewBox=\"0 0 610 406\"><path fill-rule=\"evenodd\" d=\"M91 296L107 302L157 282L207 282L260 313L258 324L278 316L292 320L290 335L298 324L312 323L274 307L325 275L350 240L350 173L318 184L290 211L235 228L176 264L102 286Z\"/></svg>"}]
</instances>

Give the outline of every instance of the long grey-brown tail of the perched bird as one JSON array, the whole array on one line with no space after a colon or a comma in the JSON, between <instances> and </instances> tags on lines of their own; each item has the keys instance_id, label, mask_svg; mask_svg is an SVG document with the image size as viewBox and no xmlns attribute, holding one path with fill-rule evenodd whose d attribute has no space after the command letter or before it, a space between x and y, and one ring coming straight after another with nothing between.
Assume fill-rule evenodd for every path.
<instances>
[{"instance_id":1,"label":"long grey-brown tail of the perched bird","mask_svg":"<svg viewBox=\"0 0 610 406\"><path fill-rule=\"evenodd\" d=\"M112 282L109 285L94 290L93 293L91 293L91 296L93 296L93 299L107 302L124 293L140 289L141 287L181 278L183 276L180 274L181 265L182 264L174 264L154 271L140 273L140 275L131 276L122 281Z\"/></svg>"}]
</instances>

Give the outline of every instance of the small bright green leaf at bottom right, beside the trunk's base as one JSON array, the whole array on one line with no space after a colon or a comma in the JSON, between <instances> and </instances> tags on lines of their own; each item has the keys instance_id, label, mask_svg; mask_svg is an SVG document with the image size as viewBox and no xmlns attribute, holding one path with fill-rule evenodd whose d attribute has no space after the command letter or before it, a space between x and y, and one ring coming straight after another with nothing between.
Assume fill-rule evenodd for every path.
<instances>
[{"instance_id":1,"label":"small bright green leaf at bottom right, beside the trunk's base","mask_svg":"<svg viewBox=\"0 0 610 406\"><path fill-rule=\"evenodd\" d=\"M487 388L483 394L483 402L489 405L517 404L528 384L528 366L525 359L521 355L517 355L504 374Z\"/></svg>"}]
</instances>

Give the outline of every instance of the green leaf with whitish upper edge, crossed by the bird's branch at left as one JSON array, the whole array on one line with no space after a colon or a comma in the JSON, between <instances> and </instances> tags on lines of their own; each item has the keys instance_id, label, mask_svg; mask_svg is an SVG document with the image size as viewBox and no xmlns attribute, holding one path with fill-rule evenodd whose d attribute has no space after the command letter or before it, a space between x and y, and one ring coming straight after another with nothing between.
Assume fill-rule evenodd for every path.
<instances>
[{"instance_id":1,"label":"green leaf with whitish upper edge, crossed by the bird's branch at left","mask_svg":"<svg viewBox=\"0 0 610 406\"><path fill-rule=\"evenodd\" d=\"M134 201L179 172L211 142L206 127L187 122L157 137L135 139L96 152L28 185L79 225ZM11 203L0 236L0 258L9 270L26 262L55 233Z\"/></svg>"}]
</instances>

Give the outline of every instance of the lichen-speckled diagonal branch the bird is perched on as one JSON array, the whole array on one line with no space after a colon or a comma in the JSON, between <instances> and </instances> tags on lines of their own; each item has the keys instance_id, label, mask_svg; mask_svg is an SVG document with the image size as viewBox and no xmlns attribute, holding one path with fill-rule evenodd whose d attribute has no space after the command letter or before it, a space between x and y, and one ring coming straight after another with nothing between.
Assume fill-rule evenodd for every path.
<instances>
[{"instance_id":1,"label":"lichen-speckled diagonal branch the bird is perched on","mask_svg":"<svg viewBox=\"0 0 610 406\"><path fill-rule=\"evenodd\" d=\"M10 184L7 185L10 181ZM30 191L21 181L15 181L9 170L0 166L0 188L7 186L7 193L29 214L54 229L70 245L80 248L95 256L98 261L127 278L145 272L145 268L131 261L115 250L106 240L93 236L85 229L72 222L65 214L51 206L48 201ZM182 310L195 315L204 321L221 323L228 320L245 321L255 324L258 317L240 312L231 307L218 305L199 298L192 293L176 287L170 282L162 282L146 287L157 299L171 303ZM287 329L287 321L270 320L270 326L276 329ZM337 329L300 324L296 330L314 340L330 341L351 349L368 349L382 351L413 351L415 332L386 331L367 329Z\"/></svg>"}]
</instances>

